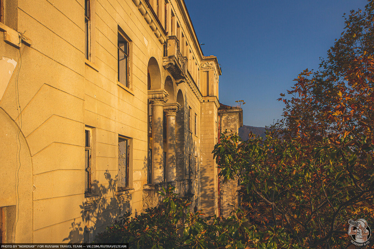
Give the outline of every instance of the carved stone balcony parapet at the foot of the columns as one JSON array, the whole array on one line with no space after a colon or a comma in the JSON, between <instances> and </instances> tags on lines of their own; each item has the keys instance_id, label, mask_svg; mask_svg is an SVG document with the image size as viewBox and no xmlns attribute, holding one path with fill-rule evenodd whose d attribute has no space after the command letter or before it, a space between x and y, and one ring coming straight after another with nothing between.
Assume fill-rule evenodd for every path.
<instances>
[{"instance_id":1,"label":"carved stone balcony parapet at the foot of the columns","mask_svg":"<svg viewBox=\"0 0 374 249\"><path fill-rule=\"evenodd\" d=\"M143 210L147 208L154 208L162 204L164 197L157 193L157 191L163 191L162 187L166 189L169 187L169 185L175 187L174 193L178 193L180 197L188 197L192 195L192 180L190 179L175 180L157 184L145 184L143 185Z\"/></svg>"}]
</instances>

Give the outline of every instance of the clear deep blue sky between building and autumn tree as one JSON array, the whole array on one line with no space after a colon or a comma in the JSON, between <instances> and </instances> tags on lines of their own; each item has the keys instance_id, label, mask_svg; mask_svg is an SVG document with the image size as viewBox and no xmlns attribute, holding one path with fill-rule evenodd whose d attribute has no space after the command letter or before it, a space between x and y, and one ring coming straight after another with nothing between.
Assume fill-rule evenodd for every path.
<instances>
[{"instance_id":1,"label":"clear deep blue sky between building and autumn tree","mask_svg":"<svg viewBox=\"0 0 374 249\"><path fill-rule=\"evenodd\" d=\"M243 124L264 127L281 118L292 81L340 36L343 13L364 0L185 0L204 55L221 64L220 102L243 106Z\"/></svg>"}]
</instances>

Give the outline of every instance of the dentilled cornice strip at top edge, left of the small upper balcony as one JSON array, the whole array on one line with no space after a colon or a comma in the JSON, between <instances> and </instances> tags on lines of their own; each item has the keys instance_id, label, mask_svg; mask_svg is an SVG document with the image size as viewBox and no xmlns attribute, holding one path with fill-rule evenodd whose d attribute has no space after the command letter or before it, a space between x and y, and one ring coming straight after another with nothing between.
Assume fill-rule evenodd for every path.
<instances>
[{"instance_id":1,"label":"dentilled cornice strip at top edge, left of the small upper balcony","mask_svg":"<svg viewBox=\"0 0 374 249\"><path fill-rule=\"evenodd\" d=\"M161 44L166 41L166 32L162 27L160 20L157 18L156 13L150 6L147 0L132 0L135 6L138 7L140 14L143 16L149 27L152 29L154 35L159 39Z\"/></svg>"}]
</instances>

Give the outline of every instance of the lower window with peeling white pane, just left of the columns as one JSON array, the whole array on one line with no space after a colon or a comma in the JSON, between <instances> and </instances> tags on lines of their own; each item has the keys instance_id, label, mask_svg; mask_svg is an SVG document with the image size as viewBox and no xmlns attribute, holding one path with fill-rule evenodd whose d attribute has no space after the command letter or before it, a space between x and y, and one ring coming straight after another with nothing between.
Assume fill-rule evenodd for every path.
<instances>
[{"instance_id":1,"label":"lower window with peeling white pane, just left of the columns","mask_svg":"<svg viewBox=\"0 0 374 249\"><path fill-rule=\"evenodd\" d=\"M118 137L118 188L129 187L129 140L123 136Z\"/></svg>"}]
</instances>

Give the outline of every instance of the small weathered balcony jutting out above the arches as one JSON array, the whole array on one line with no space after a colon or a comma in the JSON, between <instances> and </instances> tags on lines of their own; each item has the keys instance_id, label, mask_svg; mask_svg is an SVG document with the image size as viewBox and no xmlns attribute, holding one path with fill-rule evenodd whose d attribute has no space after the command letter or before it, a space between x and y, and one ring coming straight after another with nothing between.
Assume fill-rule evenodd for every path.
<instances>
[{"instance_id":1,"label":"small weathered balcony jutting out above the arches","mask_svg":"<svg viewBox=\"0 0 374 249\"><path fill-rule=\"evenodd\" d=\"M179 41L175 35L168 36L164 45L163 68L175 79L184 79L187 75L187 58L179 50Z\"/></svg>"}]
</instances>

